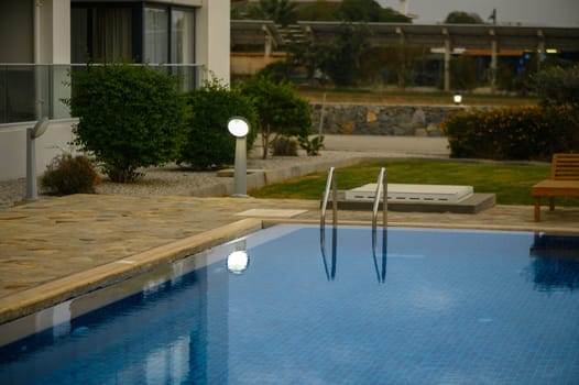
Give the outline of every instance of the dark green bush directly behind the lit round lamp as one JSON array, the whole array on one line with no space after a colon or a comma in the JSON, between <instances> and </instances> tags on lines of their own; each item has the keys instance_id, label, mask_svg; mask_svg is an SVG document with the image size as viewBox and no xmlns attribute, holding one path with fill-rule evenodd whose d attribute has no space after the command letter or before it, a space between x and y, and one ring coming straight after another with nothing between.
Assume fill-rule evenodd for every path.
<instances>
[{"instance_id":1,"label":"dark green bush directly behind the lit round lamp","mask_svg":"<svg viewBox=\"0 0 579 385\"><path fill-rule=\"evenodd\" d=\"M231 117L241 116L250 124L248 148L255 141L256 113L251 101L236 89L229 90L216 79L186 96L188 106L185 140L178 163L204 169L232 164L236 138L227 129Z\"/></svg>"}]
</instances>

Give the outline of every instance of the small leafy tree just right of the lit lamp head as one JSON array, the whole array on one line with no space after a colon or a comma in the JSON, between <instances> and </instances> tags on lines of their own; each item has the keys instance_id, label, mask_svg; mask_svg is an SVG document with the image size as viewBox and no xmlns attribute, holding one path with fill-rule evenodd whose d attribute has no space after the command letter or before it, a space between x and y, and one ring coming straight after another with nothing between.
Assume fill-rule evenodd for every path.
<instances>
[{"instance_id":1,"label":"small leafy tree just right of the lit lamp head","mask_svg":"<svg viewBox=\"0 0 579 385\"><path fill-rule=\"evenodd\" d=\"M303 136L312 131L312 111L308 102L295 92L288 82L274 82L265 76L254 76L240 85L241 92L251 98L258 111L258 125L267 157L271 135Z\"/></svg>"}]
</instances>

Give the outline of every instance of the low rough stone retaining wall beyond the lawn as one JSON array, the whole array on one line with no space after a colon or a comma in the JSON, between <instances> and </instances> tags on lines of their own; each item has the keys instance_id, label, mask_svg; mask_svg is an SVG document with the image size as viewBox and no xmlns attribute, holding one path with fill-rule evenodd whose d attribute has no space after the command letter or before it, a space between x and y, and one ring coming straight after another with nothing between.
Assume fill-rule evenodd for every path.
<instances>
[{"instance_id":1,"label":"low rough stone retaining wall beyond the lawn","mask_svg":"<svg viewBox=\"0 0 579 385\"><path fill-rule=\"evenodd\" d=\"M319 132L321 103L313 103L314 131ZM481 109L480 107L477 107ZM489 109L492 107L482 107ZM443 136L438 124L463 106L384 106L326 103L325 134Z\"/></svg>"}]
</instances>

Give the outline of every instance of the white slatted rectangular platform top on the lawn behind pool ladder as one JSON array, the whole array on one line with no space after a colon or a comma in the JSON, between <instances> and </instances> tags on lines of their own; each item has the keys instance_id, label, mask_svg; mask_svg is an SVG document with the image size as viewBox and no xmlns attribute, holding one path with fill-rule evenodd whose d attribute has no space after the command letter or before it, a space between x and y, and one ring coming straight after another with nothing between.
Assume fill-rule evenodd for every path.
<instances>
[{"instance_id":1,"label":"white slatted rectangular platform top on the lawn behind pool ladder","mask_svg":"<svg viewBox=\"0 0 579 385\"><path fill-rule=\"evenodd\" d=\"M376 184L346 190L346 200L373 201ZM389 201L459 202L474 193L472 186L387 184Z\"/></svg>"}]
</instances>

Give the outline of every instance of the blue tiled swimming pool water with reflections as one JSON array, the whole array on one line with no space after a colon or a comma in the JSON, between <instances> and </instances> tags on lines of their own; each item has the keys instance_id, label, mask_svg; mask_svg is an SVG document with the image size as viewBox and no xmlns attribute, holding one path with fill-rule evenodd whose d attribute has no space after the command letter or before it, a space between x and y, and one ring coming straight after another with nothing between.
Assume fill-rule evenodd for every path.
<instances>
[{"instance_id":1,"label":"blue tiled swimming pool water with reflections","mask_svg":"<svg viewBox=\"0 0 579 385\"><path fill-rule=\"evenodd\" d=\"M0 349L0 383L579 384L578 238L332 232L273 227L78 318L59 305Z\"/></svg>"}]
</instances>

